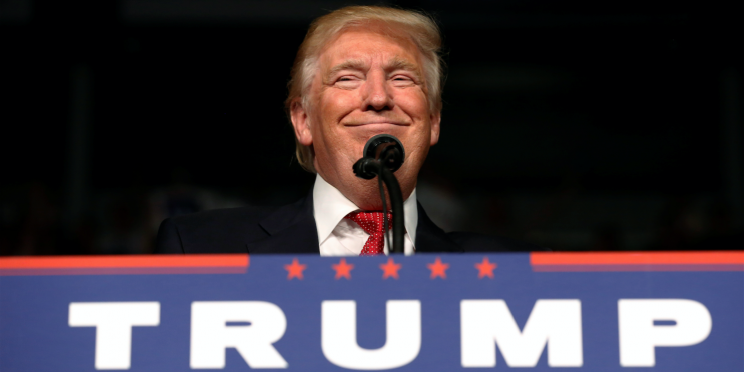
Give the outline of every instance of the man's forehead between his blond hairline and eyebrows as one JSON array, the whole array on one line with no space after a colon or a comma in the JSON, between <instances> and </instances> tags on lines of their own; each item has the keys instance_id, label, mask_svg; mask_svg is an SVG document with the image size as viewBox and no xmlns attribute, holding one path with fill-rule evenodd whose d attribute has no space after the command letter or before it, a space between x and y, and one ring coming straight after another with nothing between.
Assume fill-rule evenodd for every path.
<instances>
[{"instance_id":1,"label":"man's forehead between his blond hairline and eyebrows","mask_svg":"<svg viewBox=\"0 0 744 372\"><path fill-rule=\"evenodd\" d=\"M341 32L320 51L321 69L333 68L347 61L365 64L404 60L420 65L420 53L407 37L374 28L354 28Z\"/></svg>"}]
</instances>

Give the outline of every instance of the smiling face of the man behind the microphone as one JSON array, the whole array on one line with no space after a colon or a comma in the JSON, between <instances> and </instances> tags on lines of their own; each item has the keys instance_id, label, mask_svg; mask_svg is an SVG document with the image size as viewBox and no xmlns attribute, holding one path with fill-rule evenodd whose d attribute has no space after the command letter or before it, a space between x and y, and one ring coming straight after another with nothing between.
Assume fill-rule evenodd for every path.
<instances>
[{"instance_id":1,"label":"smiling face of the man behind the microphone","mask_svg":"<svg viewBox=\"0 0 744 372\"><path fill-rule=\"evenodd\" d=\"M375 29L352 29L325 46L318 64L310 107L292 110L298 140L315 150L315 169L359 207L372 209L367 199L379 203L377 181L355 177L352 165L369 138L392 134L406 152L395 175L407 198L439 137L439 112L429 109L418 49Z\"/></svg>"}]
</instances>

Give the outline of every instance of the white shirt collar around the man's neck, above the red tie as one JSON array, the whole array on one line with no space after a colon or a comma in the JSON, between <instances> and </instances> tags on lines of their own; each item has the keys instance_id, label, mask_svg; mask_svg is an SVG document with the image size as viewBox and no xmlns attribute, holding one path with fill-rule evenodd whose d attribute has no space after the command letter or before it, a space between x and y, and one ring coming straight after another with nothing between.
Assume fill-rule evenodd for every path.
<instances>
[{"instance_id":1,"label":"white shirt collar around the man's neck, above the red tie","mask_svg":"<svg viewBox=\"0 0 744 372\"><path fill-rule=\"evenodd\" d=\"M346 198L341 191L331 186L320 175L315 177L315 186L313 187L313 214L315 216L315 226L318 229L318 242L323 242L336 228L339 222L347 214L358 211L351 200ZM418 210L416 208L416 189L411 196L403 202L403 214L406 216L406 232L411 238L415 247L416 226L418 225Z\"/></svg>"}]
</instances>

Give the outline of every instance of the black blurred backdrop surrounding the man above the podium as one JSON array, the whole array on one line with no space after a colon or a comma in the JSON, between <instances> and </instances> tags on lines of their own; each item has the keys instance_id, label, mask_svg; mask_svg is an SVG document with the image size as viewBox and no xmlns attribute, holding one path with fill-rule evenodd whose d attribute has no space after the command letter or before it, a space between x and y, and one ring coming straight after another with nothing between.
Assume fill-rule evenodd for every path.
<instances>
[{"instance_id":1,"label":"black blurred backdrop surrounding the man above the podium","mask_svg":"<svg viewBox=\"0 0 744 372\"><path fill-rule=\"evenodd\" d=\"M147 253L165 217L305 195L289 68L349 4L0 0L0 254ZM445 230L744 246L741 1L387 4L444 34L418 195Z\"/></svg>"}]
</instances>

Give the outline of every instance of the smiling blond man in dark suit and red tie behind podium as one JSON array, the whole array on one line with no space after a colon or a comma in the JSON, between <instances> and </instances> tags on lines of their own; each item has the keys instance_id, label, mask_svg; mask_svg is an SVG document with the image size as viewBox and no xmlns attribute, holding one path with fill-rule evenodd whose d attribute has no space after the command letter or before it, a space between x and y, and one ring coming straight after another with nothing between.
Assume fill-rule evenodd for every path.
<instances>
[{"instance_id":1,"label":"smiling blond man in dark suit and red tie behind podium","mask_svg":"<svg viewBox=\"0 0 744 372\"><path fill-rule=\"evenodd\" d=\"M405 148L395 176L405 200L406 254L528 250L496 238L447 234L416 202L419 169L439 139L440 47L436 24L412 11L355 6L316 19L297 53L285 102L297 158L317 173L312 193L280 208L167 219L157 252L387 253L378 181L352 172L367 140L381 133Z\"/></svg>"}]
</instances>

